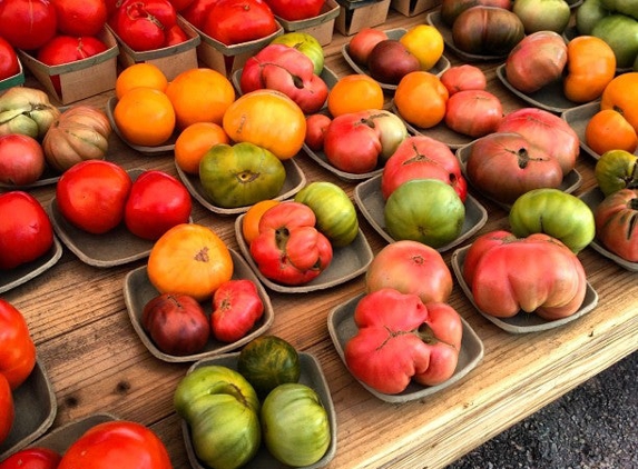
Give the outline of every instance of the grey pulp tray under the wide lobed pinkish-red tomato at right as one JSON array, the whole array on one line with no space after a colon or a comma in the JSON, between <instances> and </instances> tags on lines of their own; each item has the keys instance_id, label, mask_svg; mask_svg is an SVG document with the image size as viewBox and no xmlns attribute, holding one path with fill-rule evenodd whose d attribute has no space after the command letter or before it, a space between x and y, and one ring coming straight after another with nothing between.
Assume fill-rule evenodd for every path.
<instances>
[{"instance_id":1,"label":"grey pulp tray under the wide lobed pinkish-red tomato at right","mask_svg":"<svg viewBox=\"0 0 638 469\"><path fill-rule=\"evenodd\" d=\"M556 321L548 321L547 319L542 319L540 316L537 316L534 313L528 313L522 310L519 311L518 315L511 318L495 318L491 315L488 315L481 311L477 307L477 305L474 303L472 289L463 278L463 262L465 260L465 256L469 249L470 246L465 246L452 252L451 262L452 262L452 269L454 270L454 275L457 276L457 280L459 281L459 285L461 286L461 289L463 290L465 296L470 299L474 308L477 308L477 311L479 311L481 316L483 316L485 319L488 319L489 321L493 322L494 325L497 325L498 327L508 332L527 333L527 332L539 332L542 330L554 329L568 322L575 321L581 316L587 315L598 305L598 293L596 292L596 290L593 290L593 288L591 288L591 285L587 282L587 291L585 293L582 306L573 315L563 319L558 319Z\"/></svg>"}]
</instances>

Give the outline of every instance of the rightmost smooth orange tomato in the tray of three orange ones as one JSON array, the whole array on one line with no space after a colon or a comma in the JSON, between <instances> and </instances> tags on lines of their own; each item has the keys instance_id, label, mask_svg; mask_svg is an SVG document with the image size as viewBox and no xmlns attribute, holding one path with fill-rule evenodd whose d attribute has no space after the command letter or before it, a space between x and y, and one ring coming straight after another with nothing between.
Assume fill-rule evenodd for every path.
<instances>
[{"instance_id":1,"label":"rightmost smooth orange tomato in the tray of three orange ones","mask_svg":"<svg viewBox=\"0 0 638 469\"><path fill-rule=\"evenodd\" d=\"M208 68L183 71L168 83L166 94L175 108L179 130L195 122L222 124L226 109L235 101L230 80Z\"/></svg>"}]
</instances>

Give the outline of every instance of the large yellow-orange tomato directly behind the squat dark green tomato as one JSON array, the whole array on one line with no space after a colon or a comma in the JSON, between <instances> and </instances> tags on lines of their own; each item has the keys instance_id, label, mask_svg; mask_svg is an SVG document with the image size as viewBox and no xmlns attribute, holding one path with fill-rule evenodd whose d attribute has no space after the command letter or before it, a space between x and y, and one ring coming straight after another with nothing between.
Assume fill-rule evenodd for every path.
<instances>
[{"instance_id":1,"label":"large yellow-orange tomato directly behind the squat dark green tomato","mask_svg":"<svg viewBox=\"0 0 638 469\"><path fill-rule=\"evenodd\" d=\"M287 96L257 90L237 98L224 113L223 127L230 140L247 141L287 160L300 152L306 134L306 117Z\"/></svg>"}]
</instances>

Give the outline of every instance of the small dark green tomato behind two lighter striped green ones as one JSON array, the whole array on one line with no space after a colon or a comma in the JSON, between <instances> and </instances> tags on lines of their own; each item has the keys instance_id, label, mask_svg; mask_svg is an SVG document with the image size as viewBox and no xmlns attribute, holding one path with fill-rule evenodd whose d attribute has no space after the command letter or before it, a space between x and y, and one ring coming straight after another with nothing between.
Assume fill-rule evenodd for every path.
<instances>
[{"instance_id":1,"label":"small dark green tomato behind two lighter striped green ones","mask_svg":"<svg viewBox=\"0 0 638 469\"><path fill-rule=\"evenodd\" d=\"M239 352L237 371L258 395L267 396L279 385L297 382L302 367L300 355L289 342L276 336L261 336Z\"/></svg>"}]
</instances>

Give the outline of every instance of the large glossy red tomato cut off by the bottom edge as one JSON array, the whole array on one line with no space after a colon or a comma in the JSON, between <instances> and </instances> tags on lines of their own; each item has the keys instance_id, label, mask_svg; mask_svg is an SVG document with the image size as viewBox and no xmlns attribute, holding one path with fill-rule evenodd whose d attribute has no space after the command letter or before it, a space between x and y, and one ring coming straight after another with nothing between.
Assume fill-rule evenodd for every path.
<instances>
[{"instance_id":1,"label":"large glossy red tomato cut off by the bottom edge","mask_svg":"<svg viewBox=\"0 0 638 469\"><path fill-rule=\"evenodd\" d=\"M114 420L87 430L58 469L173 469L161 440L141 423Z\"/></svg>"}]
</instances>

